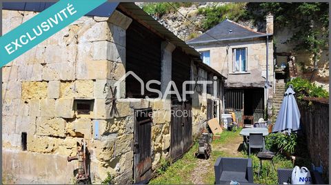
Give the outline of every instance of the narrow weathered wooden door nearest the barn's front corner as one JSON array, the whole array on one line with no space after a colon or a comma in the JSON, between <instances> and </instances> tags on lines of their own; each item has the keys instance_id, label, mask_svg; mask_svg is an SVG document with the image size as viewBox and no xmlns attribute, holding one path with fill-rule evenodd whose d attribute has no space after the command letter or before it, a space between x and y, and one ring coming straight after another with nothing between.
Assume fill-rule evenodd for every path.
<instances>
[{"instance_id":1,"label":"narrow weathered wooden door nearest the barn's front corner","mask_svg":"<svg viewBox=\"0 0 331 185\"><path fill-rule=\"evenodd\" d=\"M152 108L134 110L134 182L152 177Z\"/></svg>"}]
</instances>

